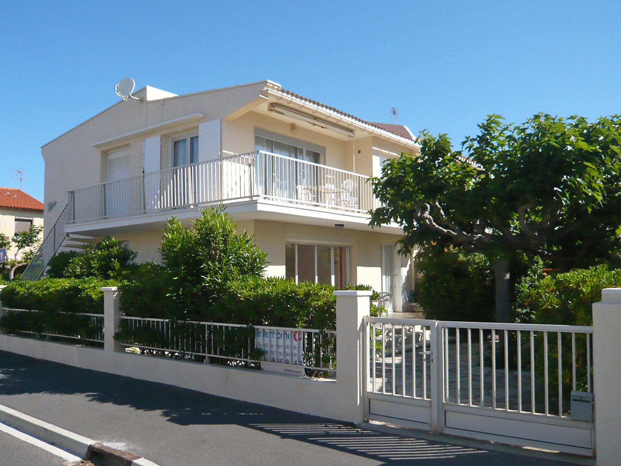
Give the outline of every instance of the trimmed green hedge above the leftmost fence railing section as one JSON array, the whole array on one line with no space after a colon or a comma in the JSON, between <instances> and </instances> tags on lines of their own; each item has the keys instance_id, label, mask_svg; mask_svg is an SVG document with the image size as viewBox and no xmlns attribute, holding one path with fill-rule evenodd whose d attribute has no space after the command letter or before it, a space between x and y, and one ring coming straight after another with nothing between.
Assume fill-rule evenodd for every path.
<instances>
[{"instance_id":1,"label":"trimmed green hedge above the leftmost fence railing section","mask_svg":"<svg viewBox=\"0 0 621 466\"><path fill-rule=\"evenodd\" d=\"M102 314L104 295L101 287L115 285L114 280L99 278L14 280L0 291L0 301L6 308Z\"/></svg>"}]
</instances>

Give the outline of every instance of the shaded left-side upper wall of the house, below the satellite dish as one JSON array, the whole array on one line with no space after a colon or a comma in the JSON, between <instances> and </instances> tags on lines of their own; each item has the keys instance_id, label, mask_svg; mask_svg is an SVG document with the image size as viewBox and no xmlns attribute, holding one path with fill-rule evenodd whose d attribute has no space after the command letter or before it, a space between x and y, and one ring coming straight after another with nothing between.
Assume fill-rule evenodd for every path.
<instances>
[{"instance_id":1,"label":"shaded left-side upper wall of the house, below the satellite dish","mask_svg":"<svg viewBox=\"0 0 621 466\"><path fill-rule=\"evenodd\" d=\"M233 111L256 99L265 82L251 83L235 88L214 89L205 93L186 94L161 99L159 89L145 88L135 95L142 103L118 102L86 122L60 135L42 149L45 161L45 200L57 201L52 212L45 212L47 233L67 203L67 191L96 185L106 180L106 154L120 147L130 147L129 176L142 173L142 141L146 137L163 134L165 137L185 132L197 123L179 125L165 131L153 130L122 144L111 143L105 147L91 144L140 130L161 122L171 121L194 113L204 114L203 121L224 118ZM150 95L151 94L151 95ZM152 100L152 98L156 98ZM167 168L167 140L162 141L162 168Z\"/></svg>"}]
</instances>

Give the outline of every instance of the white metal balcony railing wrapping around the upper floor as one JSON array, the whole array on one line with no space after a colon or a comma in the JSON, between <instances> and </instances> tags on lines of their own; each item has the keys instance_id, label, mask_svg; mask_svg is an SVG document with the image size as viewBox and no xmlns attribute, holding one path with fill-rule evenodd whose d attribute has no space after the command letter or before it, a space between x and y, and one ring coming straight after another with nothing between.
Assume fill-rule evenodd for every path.
<instances>
[{"instance_id":1,"label":"white metal balcony railing wrapping around the upper floor","mask_svg":"<svg viewBox=\"0 0 621 466\"><path fill-rule=\"evenodd\" d=\"M358 213L376 207L368 176L258 151L70 191L69 221L253 198Z\"/></svg>"}]
</instances>

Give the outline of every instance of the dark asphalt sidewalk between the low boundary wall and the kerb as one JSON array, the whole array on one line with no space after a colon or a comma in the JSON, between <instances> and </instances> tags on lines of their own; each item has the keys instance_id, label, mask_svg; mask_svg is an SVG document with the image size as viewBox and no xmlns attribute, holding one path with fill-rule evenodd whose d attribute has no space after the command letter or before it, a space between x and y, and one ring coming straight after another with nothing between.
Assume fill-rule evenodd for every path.
<instances>
[{"instance_id":1,"label":"dark asphalt sidewalk between the low boundary wall and the kerb","mask_svg":"<svg viewBox=\"0 0 621 466\"><path fill-rule=\"evenodd\" d=\"M0 404L162 466L565 464L358 429L7 352L0 352Z\"/></svg>"}]
</instances>

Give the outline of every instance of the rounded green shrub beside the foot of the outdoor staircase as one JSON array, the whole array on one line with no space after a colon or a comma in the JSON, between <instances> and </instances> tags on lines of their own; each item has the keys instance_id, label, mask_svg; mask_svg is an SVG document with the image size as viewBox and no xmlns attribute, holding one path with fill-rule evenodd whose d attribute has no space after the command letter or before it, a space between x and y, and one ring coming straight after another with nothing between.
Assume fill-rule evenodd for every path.
<instances>
[{"instance_id":1,"label":"rounded green shrub beside the foot of the outdoor staircase","mask_svg":"<svg viewBox=\"0 0 621 466\"><path fill-rule=\"evenodd\" d=\"M119 271L134 263L136 255L119 240L104 236L96 244L86 245L83 253L71 259L65 268L65 276L114 278Z\"/></svg>"}]
</instances>

